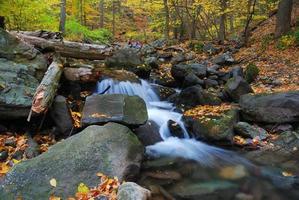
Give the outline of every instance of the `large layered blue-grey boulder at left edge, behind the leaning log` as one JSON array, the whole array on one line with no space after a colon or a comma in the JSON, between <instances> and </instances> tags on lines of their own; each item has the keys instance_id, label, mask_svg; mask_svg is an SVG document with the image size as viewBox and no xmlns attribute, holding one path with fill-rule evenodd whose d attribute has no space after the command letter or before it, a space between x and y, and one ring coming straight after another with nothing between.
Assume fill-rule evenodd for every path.
<instances>
[{"instance_id":1,"label":"large layered blue-grey boulder at left edge, behind the leaning log","mask_svg":"<svg viewBox=\"0 0 299 200\"><path fill-rule=\"evenodd\" d=\"M40 52L0 28L0 118L28 116L46 69Z\"/></svg>"}]
</instances>

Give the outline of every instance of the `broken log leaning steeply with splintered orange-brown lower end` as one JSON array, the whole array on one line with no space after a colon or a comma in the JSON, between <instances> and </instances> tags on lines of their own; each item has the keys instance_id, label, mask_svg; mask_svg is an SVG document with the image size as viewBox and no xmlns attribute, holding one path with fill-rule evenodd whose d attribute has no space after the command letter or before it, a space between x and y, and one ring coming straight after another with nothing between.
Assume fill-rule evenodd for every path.
<instances>
[{"instance_id":1,"label":"broken log leaning steeply with splintered orange-brown lower end","mask_svg":"<svg viewBox=\"0 0 299 200\"><path fill-rule=\"evenodd\" d=\"M32 112L41 114L48 110L56 95L62 71L62 63L58 59L54 59L36 89L27 121L30 121Z\"/></svg>"}]
</instances>

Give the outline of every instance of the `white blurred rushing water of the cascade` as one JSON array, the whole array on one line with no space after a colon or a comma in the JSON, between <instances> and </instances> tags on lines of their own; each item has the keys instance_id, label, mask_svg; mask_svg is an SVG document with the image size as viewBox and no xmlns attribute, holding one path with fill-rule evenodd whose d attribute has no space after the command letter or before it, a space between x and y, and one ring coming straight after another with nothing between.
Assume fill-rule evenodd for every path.
<instances>
[{"instance_id":1,"label":"white blurred rushing water of the cascade","mask_svg":"<svg viewBox=\"0 0 299 200\"><path fill-rule=\"evenodd\" d=\"M150 157L182 157L195 160L204 166L219 166L220 164L245 164L250 163L231 151L207 145L189 137L182 122L182 114L174 111L174 106L169 102L160 101L150 84L141 80L141 84L131 82L118 82L106 79L98 83L96 93L103 92L108 86L107 94L138 95L147 105L149 120L154 121L160 128L159 133L163 139L154 145L146 147L146 154ZM175 121L184 131L184 139L172 137L167 122Z\"/></svg>"}]
</instances>

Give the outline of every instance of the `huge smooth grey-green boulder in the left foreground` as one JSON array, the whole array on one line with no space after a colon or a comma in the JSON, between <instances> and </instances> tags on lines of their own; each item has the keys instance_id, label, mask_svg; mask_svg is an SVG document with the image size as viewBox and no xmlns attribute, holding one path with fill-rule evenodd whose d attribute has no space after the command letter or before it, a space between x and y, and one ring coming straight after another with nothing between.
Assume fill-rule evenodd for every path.
<instances>
[{"instance_id":1,"label":"huge smooth grey-green boulder in the left foreground","mask_svg":"<svg viewBox=\"0 0 299 200\"><path fill-rule=\"evenodd\" d=\"M143 146L129 128L115 123L89 126L46 153L13 167L0 186L0 199L67 199L81 182L96 186L101 172L120 181L139 172ZM52 187L50 180L56 179Z\"/></svg>"}]
</instances>

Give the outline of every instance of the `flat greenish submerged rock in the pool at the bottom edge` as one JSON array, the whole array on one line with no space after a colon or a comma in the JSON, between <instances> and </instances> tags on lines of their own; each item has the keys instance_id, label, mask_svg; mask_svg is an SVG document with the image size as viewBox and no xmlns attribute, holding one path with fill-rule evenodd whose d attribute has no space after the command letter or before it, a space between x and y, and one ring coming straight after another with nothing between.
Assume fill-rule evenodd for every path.
<instances>
[{"instance_id":1,"label":"flat greenish submerged rock in the pool at the bottom edge","mask_svg":"<svg viewBox=\"0 0 299 200\"><path fill-rule=\"evenodd\" d=\"M170 189L170 193L179 199L233 199L238 185L221 180L181 182Z\"/></svg>"}]
</instances>

